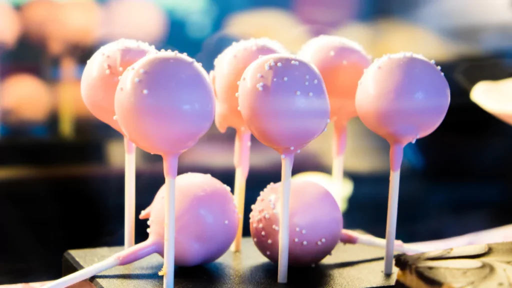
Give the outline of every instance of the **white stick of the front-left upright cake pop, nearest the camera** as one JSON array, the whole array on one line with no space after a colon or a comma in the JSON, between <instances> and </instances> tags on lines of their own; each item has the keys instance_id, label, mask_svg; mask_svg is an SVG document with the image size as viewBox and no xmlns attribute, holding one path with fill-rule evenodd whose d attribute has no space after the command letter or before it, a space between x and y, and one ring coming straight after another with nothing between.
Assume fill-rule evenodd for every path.
<instances>
[{"instance_id":1,"label":"white stick of the front-left upright cake pop, nearest the camera","mask_svg":"<svg viewBox=\"0 0 512 288\"><path fill-rule=\"evenodd\" d=\"M163 286L174 287L174 243L176 230L176 176L178 174L178 156L163 158L165 187L165 231L163 250Z\"/></svg>"}]
</instances>

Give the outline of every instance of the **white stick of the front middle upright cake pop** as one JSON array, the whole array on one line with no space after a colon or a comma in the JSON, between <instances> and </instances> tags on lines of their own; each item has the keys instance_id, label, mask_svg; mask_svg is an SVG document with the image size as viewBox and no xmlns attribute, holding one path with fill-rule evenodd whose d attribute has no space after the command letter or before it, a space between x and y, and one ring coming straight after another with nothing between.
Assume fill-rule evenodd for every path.
<instances>
[{"instance_id":1,"label":"white stick of the front middle upright cake pop","mask_svg":"<svg viewBox=\"0 0 512 288\"><path fill-rule=\"evenodd\" d=\"M281 205L279 209L279 263L278 282L286 283L288 280L288 245L290 239L290 186L291 169L293 166L293 154L281 156L281 187L279 198Z\"/></svg>"}]
</instances>

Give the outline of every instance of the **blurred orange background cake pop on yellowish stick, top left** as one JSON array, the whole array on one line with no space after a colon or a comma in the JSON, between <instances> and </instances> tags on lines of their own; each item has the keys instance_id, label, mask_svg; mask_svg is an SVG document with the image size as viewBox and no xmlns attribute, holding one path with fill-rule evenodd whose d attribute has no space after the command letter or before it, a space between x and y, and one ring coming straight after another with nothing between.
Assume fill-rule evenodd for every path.
<instances>
[{"instance_id":1,"label":"blurred orange background cake pop on yellowish stick, top left","mask_svg":"<svg viewBox=\"0 0 512 288\"><path fill-rule=\"evenodd\" d=\"M46 47L52 56L60 57L60 81L72 82L77 77L74 53L78 48L88 48L99 40L101 6L93 0L58 2L54 17L48 26ZM65 138L74 137L75 111L73 94L58 90L59 132Z\"/></svg>"}]
</instances>

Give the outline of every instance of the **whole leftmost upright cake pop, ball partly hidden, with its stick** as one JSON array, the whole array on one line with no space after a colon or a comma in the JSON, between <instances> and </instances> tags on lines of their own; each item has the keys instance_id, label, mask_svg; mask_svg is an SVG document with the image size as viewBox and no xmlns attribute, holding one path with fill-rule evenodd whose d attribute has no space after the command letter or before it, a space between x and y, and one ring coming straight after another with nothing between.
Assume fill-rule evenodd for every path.
<instances>
[{"instance_id":1,"label":"whole leftmost upright cake pop, ball partly hidden, with its stick","mask_svg":"<svg viewBox=\"0 0 512 288\"><path fill-rule=\"evenodd\" d=\"M120 39L101 47L87 61L81 80L83 102L99 120L123 134L114 119L114 97L124 70L156 51L147 43ZM123 134L124 135L124 134ZM124 248L135 244L135 146L124 137Z\"/></svg>"}]
</instances>

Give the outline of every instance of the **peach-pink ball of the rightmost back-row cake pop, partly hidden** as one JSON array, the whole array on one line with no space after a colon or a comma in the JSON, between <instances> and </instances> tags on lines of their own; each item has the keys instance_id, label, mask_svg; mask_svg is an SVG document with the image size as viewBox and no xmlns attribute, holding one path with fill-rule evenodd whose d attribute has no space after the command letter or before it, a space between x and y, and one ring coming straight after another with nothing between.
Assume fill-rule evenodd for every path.
<instances>
[{"instance_id":1,"label":"peach-pink ball of the rightmost back-row cake pop, partly hidden","mask_svg":"<svg viewBox=\"0 0 512 288\"><path fill-rule=\"evenodd\" d=\"M357 84L372 63L371 57L359 44L339 36L322 35L304 44L297 57L309 61L322 75L332 121L348 122L357 116Z\"/></svg>"}]
</instances>

